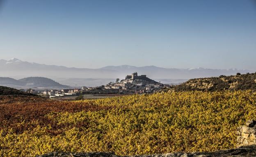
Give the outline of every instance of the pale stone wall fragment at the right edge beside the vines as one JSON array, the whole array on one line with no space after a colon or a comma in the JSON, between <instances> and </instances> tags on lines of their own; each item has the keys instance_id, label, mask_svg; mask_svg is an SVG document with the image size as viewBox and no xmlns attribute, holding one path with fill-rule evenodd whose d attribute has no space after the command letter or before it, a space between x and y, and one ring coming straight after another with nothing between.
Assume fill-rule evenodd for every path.
<instances>
[{"instance_id":1,"label":"pale stone wall fragment at the right edge beside the vines","mask_svg":"<svg viewBox=\"0 0 256 157\"><path fill-rule=\"evenodd\" d=\"M256 144L256 121L247 121L245 125L237 128L237 147Z\"/></svg>"}]
</instances>

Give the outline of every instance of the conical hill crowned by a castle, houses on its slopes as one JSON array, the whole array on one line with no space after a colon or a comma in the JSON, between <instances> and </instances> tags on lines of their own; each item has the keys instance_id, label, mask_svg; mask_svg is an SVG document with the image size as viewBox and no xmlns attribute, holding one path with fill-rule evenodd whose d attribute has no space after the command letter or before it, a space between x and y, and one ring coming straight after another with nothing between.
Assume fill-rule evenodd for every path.
<instances>
[{"instance_id":1,"label":"conical hill crowned by a castle, houses on its slopes","mask_svg":"<svg viewBox=\"0 0 256 157\"><path fill-rule=\"evenodd\" d=\"M110 82L105 86L107 90L118 90L123 93L153 93L159 89L167 88L169 85L161 84L149 79L146 75L138 76L137 72L127 75L125 80Z\"/></svg>"}]
</instances>

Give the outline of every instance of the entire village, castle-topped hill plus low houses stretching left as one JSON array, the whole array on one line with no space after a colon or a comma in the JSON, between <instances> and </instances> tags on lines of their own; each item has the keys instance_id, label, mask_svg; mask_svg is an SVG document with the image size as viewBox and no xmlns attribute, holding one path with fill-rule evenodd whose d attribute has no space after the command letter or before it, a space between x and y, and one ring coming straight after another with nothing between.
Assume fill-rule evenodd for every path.
<instances>
[{"instance_id":1,"label":"entire village, castle-topped hill plus low houses stretching left","mask_svg":"<svg viewBox=\"0 0 256 157\"><path fill-rule=\"evenodd\" d=\"M44 90L40 93L30 90L29 93L40 94L48 97L66 97L81 94L142 94L153 93L163 88L169 88L169 84L161 84L146 77L146 75L138 75L137 72L127 75L124 80L116 79L116 82L109 82L106 85L98 87L74 88L74 89L51 89Z\"/></svg>"}]
</instances>

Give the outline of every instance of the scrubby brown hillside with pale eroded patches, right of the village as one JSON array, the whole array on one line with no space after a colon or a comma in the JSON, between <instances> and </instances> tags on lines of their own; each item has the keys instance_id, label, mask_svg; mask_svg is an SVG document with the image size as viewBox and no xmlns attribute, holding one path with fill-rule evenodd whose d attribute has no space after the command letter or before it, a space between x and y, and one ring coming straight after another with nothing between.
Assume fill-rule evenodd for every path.
<instances>
[{"instance_id":1,"label":"scrubby brown hillside with pale eroded patches, right of the village","mask_svg":"<svg viewBox=\"0 0 256 157\"><path fill-rule=\"evenodd\" d=\"M256 91L256 73L191 79L174 86L174 91Z\"/></svg>"}]
</instances>

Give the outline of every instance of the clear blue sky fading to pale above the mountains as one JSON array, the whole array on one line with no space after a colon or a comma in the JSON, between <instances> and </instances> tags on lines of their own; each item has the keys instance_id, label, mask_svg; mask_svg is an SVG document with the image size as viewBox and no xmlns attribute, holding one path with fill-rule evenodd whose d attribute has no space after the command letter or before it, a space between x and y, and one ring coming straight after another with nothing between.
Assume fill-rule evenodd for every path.
<instances>
[{"instance_id":1,"label":"clear blue sky fading to pale above the mountains","mask_svg":"<svg viewBox=\"0 0 256 157\"><path fill-rule=\"evenodd\" d=\"M0 59L256 70L256 0L0 0Z\"/></svg>"}]
</instances>

